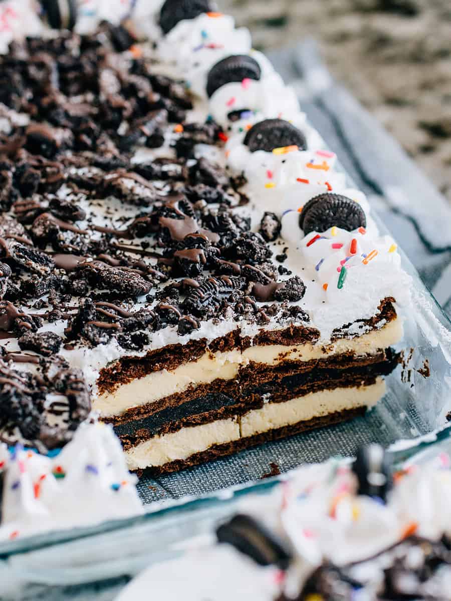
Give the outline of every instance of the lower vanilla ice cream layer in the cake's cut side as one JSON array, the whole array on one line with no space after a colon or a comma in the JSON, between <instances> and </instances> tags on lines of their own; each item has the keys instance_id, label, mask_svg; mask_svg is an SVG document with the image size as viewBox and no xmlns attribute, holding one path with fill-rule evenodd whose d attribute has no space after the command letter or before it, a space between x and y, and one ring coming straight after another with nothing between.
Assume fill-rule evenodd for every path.
<instances>
[{"instance_id":1,"label":"lower vanilla ice cream layer in the cake's cut side","mask_svg":"<svg viewBox=\"0 0 451 601\"><path fill-rule=\"evenodd\" d=\"M379 378L370 386L310 392L284 403L267 403L262 409L251 410L236 419L219 419L141 442L126 451L127 465L135 470L185 460L213 445L238 441L330 413L372 407L384 393L385 382Z\"/></svg>"}]
</instances>

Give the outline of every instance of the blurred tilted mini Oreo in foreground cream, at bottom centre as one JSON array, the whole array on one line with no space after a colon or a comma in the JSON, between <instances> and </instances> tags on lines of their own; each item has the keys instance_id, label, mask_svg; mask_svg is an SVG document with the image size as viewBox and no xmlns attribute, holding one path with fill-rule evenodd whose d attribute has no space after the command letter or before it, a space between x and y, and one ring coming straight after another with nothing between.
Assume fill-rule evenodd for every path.
<instances>
[{"instance_id":1,"label":"blurred tilted mini Oreo in foreground cream, at bottom centre","mask_svg":"<svg viewBox=\"0 0 451 601\"><path fill-rule=\"evenodd\" d=\"M219 543L229 543L260 566L286 570L292 555L285 543L251 516L238 514L216 530Z\"/></svg>"}]
</instances>

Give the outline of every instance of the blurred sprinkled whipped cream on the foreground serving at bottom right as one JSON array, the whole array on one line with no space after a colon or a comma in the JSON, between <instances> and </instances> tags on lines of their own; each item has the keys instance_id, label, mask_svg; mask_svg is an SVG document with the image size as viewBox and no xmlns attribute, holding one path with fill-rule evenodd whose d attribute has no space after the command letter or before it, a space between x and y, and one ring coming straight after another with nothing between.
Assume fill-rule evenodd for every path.
<instances>
[{"instance_id":1,"label":"blurred sprinkled whipped cream on the foreground serving at bottom right","mask_svg":"<svg viewBox=\"0 0 451 601\"><path fill-rule=\"evenodd\" d=\"M358 494L357 478L346 461L332 459L298 468L268 495L247 496L237 508L239 514L251 516L275 532L291 550L292 561L286 572L274 565L251 564L250 557L235 548L211 543L212 535L188 542L185 546L188 551L182 558L150 567L119 599L133 599L133 594L147 590L149 585L157 594L164 591L168 600L182 595L186 599L199 599L204 592L208 592L209 599L219 600L225 598L223 590L227 590L227 599L230 596L240 599L243 590L252 590L253 581L254 590L265 584L262 599L319 601L324 597L313 593L309 597L304 587L308 579L312 576L314 579L315 573L318 575L316 570L321 566L346 568L348 575L361 582L362 587L354 588L350 598L385 599L378 596L378 591L384 570L396 561L396 546L404 552L402 545L409 540L414 543L415 537L425 539L426 545L434 545L451 534L450 465L449 456L441 453L422 467L410 466L396 472L386 502ZM249 536L251 546L258 547L260 534L253 537L250 531ZM420 551L414 544L410 548L408 569L412 573L421 565ZM384 555L386 552L388 555ZM205 570L206 558L209 570ZM229 565L233 570L223 567ZM181 581L168 578L170 573L182 575ZM400 574L408 577L407 572ZM419 590L414 592L422 599L429 598L427 590L431 598L451 599L450 578L450 566L446 564L430 578L427 586L433 588L422 590L422 594ZM338 597L339 588L334 588L333 581L328 594L328 599L342 598Z\"/></svg>"}]
</instances>

